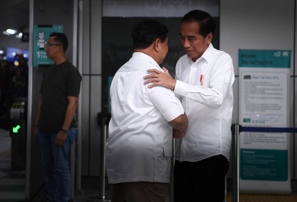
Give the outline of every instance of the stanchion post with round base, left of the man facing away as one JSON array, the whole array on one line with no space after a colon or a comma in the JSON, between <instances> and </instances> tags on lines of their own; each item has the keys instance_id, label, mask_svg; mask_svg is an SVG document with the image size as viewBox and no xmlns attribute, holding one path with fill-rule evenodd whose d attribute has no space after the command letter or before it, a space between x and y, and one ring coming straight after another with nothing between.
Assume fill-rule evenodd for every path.
<instances>
[{"instance_id":1,"label":"stanchion post with round base, left of the man facing away","mask_svg":"<svg viewBox=\"0 0 297 202\"><path fill-rule=\"evenodd\" d=\"M89 202L93 201L110 201L105 199L105 141L107 136L107 117L101 118L101 156L100 156L100 197L99 198L89 198Z\"/></svg>"}]
</instances>

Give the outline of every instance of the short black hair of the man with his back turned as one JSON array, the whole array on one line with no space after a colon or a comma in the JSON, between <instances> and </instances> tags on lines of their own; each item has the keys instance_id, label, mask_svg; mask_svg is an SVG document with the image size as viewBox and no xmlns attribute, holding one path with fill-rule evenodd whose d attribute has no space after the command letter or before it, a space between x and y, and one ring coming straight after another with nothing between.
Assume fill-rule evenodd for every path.
<instances>
[{"instance_id":1,"label":"short black hair of the man with his back turned","mask_svg":"<svg viewBox=\"0 0 297 202\"><path fill-rule=\"evenodd\" d=\"M143 20L137 23L131 32L133 39L133 47L138 49L146 49L156 39L160 39L163 43L167 38L168 28L163 23L156 20Z\"/></svg>"}]
</instances>

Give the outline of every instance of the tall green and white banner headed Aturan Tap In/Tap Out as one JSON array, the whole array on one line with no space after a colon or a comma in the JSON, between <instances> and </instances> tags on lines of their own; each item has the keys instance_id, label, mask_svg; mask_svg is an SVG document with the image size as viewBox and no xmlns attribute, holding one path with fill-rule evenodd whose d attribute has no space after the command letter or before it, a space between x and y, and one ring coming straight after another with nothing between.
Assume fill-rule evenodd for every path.
<instances>
[{"instance_id":1,"label":"tall green and white banner headed Aturan Tap In/Tap Out","mask_svg":"<svg viewBox=\"0 0 297 202\"><path fill-rule=\"evenodd\" d=\"M291 51L239 50L239 124L289 126ZM291 193L286 133L240 133L240 192Z\"/></svg>"}]
</instances>

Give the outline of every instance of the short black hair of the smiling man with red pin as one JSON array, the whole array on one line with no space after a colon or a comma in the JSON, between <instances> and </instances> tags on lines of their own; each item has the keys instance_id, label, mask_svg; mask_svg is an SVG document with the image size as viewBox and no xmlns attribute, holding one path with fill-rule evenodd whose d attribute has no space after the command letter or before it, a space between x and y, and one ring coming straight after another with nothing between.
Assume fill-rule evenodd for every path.
<instances>
[{"instance_id":1,"label":"short black hair of the smiling man with red pin","mask_svg":"<svg viewBox=\"0 0 297 202\"><path fill-rule=\"evenodd\" d=\"M214 33L216 23L209 13L202 10L192 10L185 14L181 19L182 22L199 22L199 34L205 38L208 33Z\"/></svg>"}]
</instances>

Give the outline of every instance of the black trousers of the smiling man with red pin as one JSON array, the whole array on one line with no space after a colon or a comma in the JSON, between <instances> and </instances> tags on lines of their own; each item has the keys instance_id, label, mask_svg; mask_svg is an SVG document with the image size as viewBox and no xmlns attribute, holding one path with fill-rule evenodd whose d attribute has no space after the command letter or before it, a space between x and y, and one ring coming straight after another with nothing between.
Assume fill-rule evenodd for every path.
<instances>
[{"instance_id":1,"label":"black trousers of the smiling man with red pin","mask_svg":"<svg viewBox=\"0 0 297 202\"><path fill-rule=\"evenodd\" d=\"M229 161L216 155L201 161L174 165L174 202L222 202Z\"/></svg>"}]
</instances>

